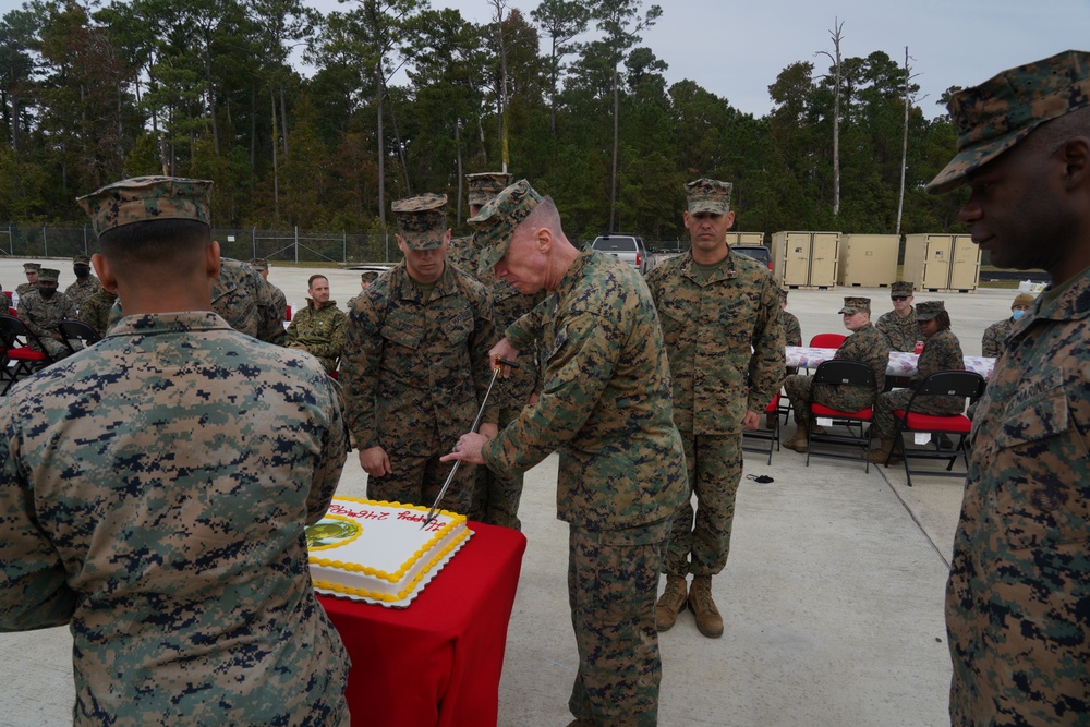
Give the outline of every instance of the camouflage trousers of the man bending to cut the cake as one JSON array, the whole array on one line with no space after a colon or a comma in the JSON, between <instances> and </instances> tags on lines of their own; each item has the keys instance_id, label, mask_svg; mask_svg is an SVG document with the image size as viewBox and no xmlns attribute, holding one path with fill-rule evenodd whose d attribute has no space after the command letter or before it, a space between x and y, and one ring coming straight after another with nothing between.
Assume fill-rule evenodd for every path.
<instances>
[{"instance_id":1,"label":"camouflage trousers of the man bending to cut the cake","mask_svg":"<svg viewBox=\"0 0 1090 727\"><path fill-rule=\"evenodd\" d=\"M571 525L568 604L579 670L568 708L598 727L658 722L655 595L669 519L625 530Z\"/></svg>"}]
</instances>

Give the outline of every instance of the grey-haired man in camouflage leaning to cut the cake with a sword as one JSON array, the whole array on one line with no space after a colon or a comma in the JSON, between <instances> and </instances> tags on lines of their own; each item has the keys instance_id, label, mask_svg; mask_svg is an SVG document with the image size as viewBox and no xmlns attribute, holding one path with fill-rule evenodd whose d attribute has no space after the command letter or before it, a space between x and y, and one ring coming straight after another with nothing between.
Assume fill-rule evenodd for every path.
<instances>
[{"instance_id":1,"label":"grey-haired man in camouflage leaning to cut the cake with a sword","mask_svg":"<svg viewBox=\"0 0 1090 727\"><path fill-rule=\"evenodd\" d=\"M496 241L481 251L481 267L499 264L502 276L508 250L524 255L512 242L524 220L523 232L548 230L548 259L562 277L497 350L509 356L540 340L542 395L495 439L463 436L458 446L472 440L500 474L524 472L559 450L557 517L569 523L568 603L579 651L569 710L597 725L654 725L662 663L653 605L670 517L686 492L662 330L640 275L611 256L576 250L553 202L525 180L474 218ZM542 270L516 284L542 288Z\"/></svg>"}]
</instances>

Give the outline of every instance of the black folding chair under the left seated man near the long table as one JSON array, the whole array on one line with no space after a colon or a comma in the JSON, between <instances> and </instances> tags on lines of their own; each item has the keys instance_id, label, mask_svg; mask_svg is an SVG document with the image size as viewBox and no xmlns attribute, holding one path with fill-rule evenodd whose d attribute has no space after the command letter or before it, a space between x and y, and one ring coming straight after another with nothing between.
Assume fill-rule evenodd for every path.
<instances>
[{"instance_id":1,"label":"black folding chair under the left seated man near the long table","mask_svg":"<svg viewBox=\"0 0 1090 727\"><path fill-rule=\"evenodd\" d=\"M874 369L861 361L847 361L837 359L826 361L818 366L813 375L813 384L810 386L810 398L806 402L807 411L810 413L810 434L807 437L807 467L810 467L811 457L826 457L829 459L846 459L859 461L860 455L865 462L864 472L871 471L871 462L867 459L867 451L871 448L871 431L863 431L863 425L869 424L873 419L874 411L871 407L859 411L840 411L820 404L813 400L818 391L819 384L831 384L839 386L858 386L870 389L877 396L877 384L874 379ZM873 399L872 399L873 401ZM818 417L832 419L833 426L843 426L846 434L834 432L832 427L825 434L815 434L814 425ZM852 432L852 427L858 427L859 433ZM872 427L873 428L873 427ZM814 444L821 445L848 445L859 447L859 452L846 453L837 449L825 451L814 451Z\"/></svg>"}]
</instances>

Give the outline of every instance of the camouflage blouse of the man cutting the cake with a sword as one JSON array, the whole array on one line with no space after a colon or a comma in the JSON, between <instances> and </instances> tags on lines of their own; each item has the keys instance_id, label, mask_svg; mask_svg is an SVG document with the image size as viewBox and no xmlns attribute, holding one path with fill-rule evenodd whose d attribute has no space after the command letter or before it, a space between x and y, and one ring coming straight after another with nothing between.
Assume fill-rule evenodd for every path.
<instances>
[{"instance_id":1,"label":"camouflage blouse of the man cutting the cake with a sword","mask_svg":"<svg viewBox=\"0 0 1090 727\"><path fill-rule=\"evenodd\" d=\"M537 402L482 449L488 468L525 471L559 450L560 520L613 531L669 518L688 493L685 453L666 347L640 274L584 251L506 336L519 351L541 340L544 383Z\"/></svg>"}]
</instances>

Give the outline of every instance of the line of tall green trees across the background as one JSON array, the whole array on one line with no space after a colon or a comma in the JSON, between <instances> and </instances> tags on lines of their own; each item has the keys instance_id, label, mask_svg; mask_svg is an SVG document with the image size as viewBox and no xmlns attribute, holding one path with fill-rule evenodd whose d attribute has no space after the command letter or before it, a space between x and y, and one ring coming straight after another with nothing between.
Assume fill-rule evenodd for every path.
<instances>
[{"instance_id":1,"label":"line of tall green trees across the background","mask_svg":"<svg viewBox=\"0 0 1090 727\"><path fill-rule=\"evenodd\" d=\"M734 182L735 229L888 233L904 162L900 231L962 231L964 193L923 192L956 132L885 52L791 63L758 118L666 82L641 44L668 9L481 2L481 24L427 0L25 2L0 19L0 222L78 225L77 195L167 173L214 180L221 227L376 233L439 192L464 229L464 175L506 168L573 238L683 234L698 177Z\"/></svg>"}]
</instances>

